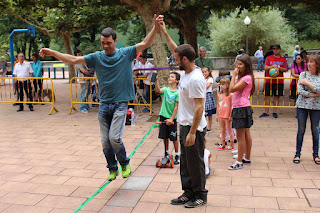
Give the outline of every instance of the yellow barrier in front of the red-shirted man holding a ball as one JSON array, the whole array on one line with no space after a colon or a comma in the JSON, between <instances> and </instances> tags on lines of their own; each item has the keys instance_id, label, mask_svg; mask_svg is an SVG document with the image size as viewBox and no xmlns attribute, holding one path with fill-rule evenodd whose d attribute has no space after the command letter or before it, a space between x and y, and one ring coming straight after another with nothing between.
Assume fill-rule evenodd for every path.
<instances>
[{"instance_id":1,"label":"yellow barrier in front of the red-shirted man holding a ball","mask_svg":"<svg viewBox=\"0 0 320 213\"><path fill-rule=\"evenodd\" d=\"M266 105L265 103L265 93L266 93L266 79L272 79L279 82L279 80L283 80L283 96L282 97L282 104L279 105L279 102L276 102L275 105L271 105L271 101L269 105ZM265 108L296 108L295 107L295 100L290 100L289 96L291 96L291 81L296 80L296 85L298 83L298 78L287 78L287 77L277 77L277 78L271 78L271 77L255 77L256 82L256 91L255 94L253 94L250 97L250 102L252 107L265 107ZM257 82L258 81L258 82ZM262 83L260 83L262 81ZM289 82L289 84L287 83ZM276 83L273 83L273 85ZM277 85L277 84L276 84ZM260 94L262 90L260 90L260 87L263 86L263 94ZM286 93L288 91L288 93ZM289 94L289 95L287 95ZM278 87L276 90L276 95L278 95ZM262 96L262 97L261 97ZM272 81L270 81L270 97L272 96ZM297 90L295 96L297 97ZM263 100L261 100L263 99ZM281 102L280 102L281 103Z\"/></svg>"}]
</instances>

